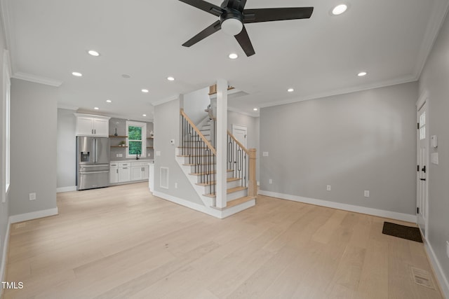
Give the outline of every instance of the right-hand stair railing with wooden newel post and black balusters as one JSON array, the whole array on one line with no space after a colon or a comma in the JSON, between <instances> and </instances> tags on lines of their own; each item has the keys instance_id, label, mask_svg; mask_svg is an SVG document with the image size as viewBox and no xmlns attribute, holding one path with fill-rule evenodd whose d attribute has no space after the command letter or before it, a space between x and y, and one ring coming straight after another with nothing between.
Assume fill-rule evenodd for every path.
<instances>
[{"instance_id":1,"label":"right-hand stair railing with wooden newel post and black balusters","mask_svg":"<svg viewBox=\"0 0 449 299\"><path fill-rule=\"evenodd\" d=\"M247 149L234 135L227 131L227 168L240 179L241 187L248 188L248 196L257 195L255 178L255 148Z\"/></svg>"}]
</instances>

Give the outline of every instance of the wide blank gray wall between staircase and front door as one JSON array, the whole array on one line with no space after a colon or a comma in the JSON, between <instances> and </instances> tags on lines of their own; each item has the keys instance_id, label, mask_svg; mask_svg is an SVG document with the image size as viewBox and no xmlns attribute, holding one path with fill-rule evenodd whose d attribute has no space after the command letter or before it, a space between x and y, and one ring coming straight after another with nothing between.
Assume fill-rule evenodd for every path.
<instances>
[{"instance_id":1,"label":"wide blank gray wall between staircase and front door","mask_svg":"<svg viewBox=\"0 0 449 299\"><path fill-rule=\"evenodd\" d=\"M260 189L415 215L416 100L406 83L262 109Z\"/></svg>"}]
</instances>

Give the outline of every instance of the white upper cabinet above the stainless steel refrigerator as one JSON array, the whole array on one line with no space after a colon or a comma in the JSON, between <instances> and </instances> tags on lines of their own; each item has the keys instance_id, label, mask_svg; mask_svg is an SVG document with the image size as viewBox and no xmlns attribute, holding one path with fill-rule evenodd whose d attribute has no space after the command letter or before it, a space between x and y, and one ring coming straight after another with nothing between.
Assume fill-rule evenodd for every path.
<instances>
[{"instance_id":1,"label":"white upper cabinet above the stainless steel refrigerator","mask_svg":"<svg viewBox=\"0 0 449 299\"><path fill-rule=\"evenodd\" d=\"M109 117L74 114L76 116L76 136L109 136Z\"/></svg>"}]
</instances>

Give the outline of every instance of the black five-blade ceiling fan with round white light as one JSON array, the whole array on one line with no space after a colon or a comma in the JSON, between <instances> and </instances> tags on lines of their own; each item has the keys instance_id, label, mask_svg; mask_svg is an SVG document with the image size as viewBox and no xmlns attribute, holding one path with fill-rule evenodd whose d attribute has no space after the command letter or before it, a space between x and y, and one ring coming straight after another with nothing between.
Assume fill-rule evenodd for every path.
<instances>
[{"instance_id":1,"label":"black five-blade ceiling fan with round white light","mask_svg":"<svg viewBox=\"0 0 449 299\"><path fill-rule=\"evenodd\" d=\"M183 43L182 46L193 46L195 43L223 29L227 34L235 36L248 57L254 55L255 51L243 24L308 19L314 11L313 7L245 9L246 0L225 0L221 6L216 6L203 0L180 1L220 17L220 20L196 34L192 39Z\"/></svg>"}]
</instances>

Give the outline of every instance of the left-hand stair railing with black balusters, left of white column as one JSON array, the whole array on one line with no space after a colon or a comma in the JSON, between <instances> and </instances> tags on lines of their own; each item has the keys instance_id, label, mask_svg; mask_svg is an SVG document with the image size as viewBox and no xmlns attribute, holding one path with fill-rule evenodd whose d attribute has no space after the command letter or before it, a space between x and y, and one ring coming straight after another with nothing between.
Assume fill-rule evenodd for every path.
<instances>
[{"instance_id":1,"label":"left-hand stair railing with black balusters, left of white column","mask_svg":"<svg viewBox=\"0 0 449 299\"><path fill-rule=\"evenodd\" d=\"M210 194L215 194L217 151L185 114L184 109L181 109L180 117L182 123L180 154L189 158L189 165L194 167L196 174L199 174L200 183L208 186Z\"/></svg>"}]
</instances>

